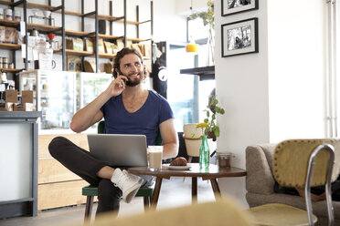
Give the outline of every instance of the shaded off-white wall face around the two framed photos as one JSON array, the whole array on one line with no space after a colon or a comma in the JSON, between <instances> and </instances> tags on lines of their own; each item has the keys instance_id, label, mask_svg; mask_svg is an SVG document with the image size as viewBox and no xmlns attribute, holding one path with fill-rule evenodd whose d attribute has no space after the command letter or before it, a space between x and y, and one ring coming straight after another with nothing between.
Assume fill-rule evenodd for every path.
<instances>
[{"instance_id":1,"label":"shaded off-white wall face around the two framed photos","mask_svg":"<svg viewBox=\"0 0 340 226\"><path fill-rule=\"evenodd\" d=\"M247 145L269 142L269 97L267 53L267 3L260 1L260 9L237 15L221 16L220 1L215 2L217 95L226 114L218 116L220 137L218 152L232 152L232 166L245 169ZM251 17L259 17L258 54L221 57L220 26ZM221 191L248 206L245 178L218 180Z\"/></svg>"}]
</instances>

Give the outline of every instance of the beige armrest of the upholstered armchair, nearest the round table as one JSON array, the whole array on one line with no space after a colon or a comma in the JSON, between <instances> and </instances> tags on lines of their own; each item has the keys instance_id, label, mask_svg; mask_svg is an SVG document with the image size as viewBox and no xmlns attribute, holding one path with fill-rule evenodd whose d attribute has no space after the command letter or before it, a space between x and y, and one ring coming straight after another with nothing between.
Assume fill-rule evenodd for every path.
<instances>
[{"instance_id":1,"label":"beige armrest of the upholstered armchair, nearest the round table","mask_svg":"<svg viewBox=\"0 0 340 226\"><path fill-rule=\"evenodd\" d=\"M266 155L259 145L247 147L246 170L246 189L248 192L259 194L274 193L275 180Z\"/></svg>"}]
</instances>

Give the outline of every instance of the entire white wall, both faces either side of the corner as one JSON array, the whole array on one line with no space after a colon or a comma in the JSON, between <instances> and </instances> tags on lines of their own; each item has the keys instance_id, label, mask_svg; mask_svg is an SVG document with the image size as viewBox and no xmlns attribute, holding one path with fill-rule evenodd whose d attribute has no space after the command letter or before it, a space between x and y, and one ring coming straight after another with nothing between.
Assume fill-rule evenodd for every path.
<instances>
[{"instance_id":1,"label":"entire white wall, both faces either side of the corner","mask_svg":"<svg viewBox=\"0 0 340 226\"><path fill-rule=\"evenodd\" d=\"M299 3L298 3L299 2ZM245 169L248 145L323 137L324 8L322 1L260 0L260 9L222 17L215 1L217 95L226 114L218 151ZM221 57L220 26L259 18L259 53ZM245 179L219 180L245 207Z\"/></svg>"}]
</instances>

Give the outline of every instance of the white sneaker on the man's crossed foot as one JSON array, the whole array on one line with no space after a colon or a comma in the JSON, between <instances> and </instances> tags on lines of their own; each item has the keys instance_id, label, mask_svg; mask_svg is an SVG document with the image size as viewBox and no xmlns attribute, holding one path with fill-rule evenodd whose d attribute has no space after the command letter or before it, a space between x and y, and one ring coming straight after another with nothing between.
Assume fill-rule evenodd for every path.
<instances>
[{"instance_id":1,"label":"white sneaker on the man's crossed foot","mask_svg":"<svg viewBox=\"0 0 340 226\"><path fill-rule=\"evenodd\" d=\"M111 181L114 186L122 190L122 200L130 203L143 183L143 179L117 168L114 170Z\"/></svg>"}]
</instances>

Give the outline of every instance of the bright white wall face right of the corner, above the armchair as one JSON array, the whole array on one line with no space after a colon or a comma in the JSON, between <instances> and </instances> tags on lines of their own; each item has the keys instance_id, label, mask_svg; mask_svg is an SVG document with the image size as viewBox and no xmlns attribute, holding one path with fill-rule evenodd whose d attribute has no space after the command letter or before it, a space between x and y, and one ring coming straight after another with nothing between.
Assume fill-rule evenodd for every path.
<instances>
[{"instance_id":1,"label":"bright white wall face right of the corner, above the armchair","mask_svg":"<svg viewBox=\"0 0 340 226\"><path fill-rule=\"evenodd\" d=\"M268 1L271 142L324 137L324 7Z\"/></svg>"}]
</instances>

